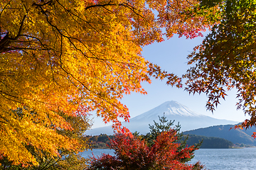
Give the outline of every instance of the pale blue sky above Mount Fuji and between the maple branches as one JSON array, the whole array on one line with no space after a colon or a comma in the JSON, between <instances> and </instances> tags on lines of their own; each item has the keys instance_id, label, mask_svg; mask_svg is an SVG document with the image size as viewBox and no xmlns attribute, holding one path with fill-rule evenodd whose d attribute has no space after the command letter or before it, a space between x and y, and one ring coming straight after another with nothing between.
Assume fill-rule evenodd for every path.
<instances>
[{"instance_id":1,"label":"pale blue sky above Mount Fuji and between the maple branches","mask_svg":"<svg viewBox=\"0 0 256 170\"><path fill-rule=\"evenodd\" d=\"M174 35L169 40L144 47L142 55L146 60L158 64L167 72L173 72L181 76L189 68L186 64L188 61L186 57L193 51L193 47L201 44L202 41L203 38L190 40L183 37L178 38L178 35ZM129 108L131 118L149 111L151 108L155 108L165 101L178 101L178 103L187 106L196 113L208 115L213 118L235 121L242 121L245 118L249 118L241 110L236 110L235 103L238 100L235 98L235 89L229 91L225 101L221 100L221 105L218 106L214 113L211 113L210 111L206 111L206 101L208 100L206 94L189 95L183 89L167 86L165 81L155 79L152 79L151 84L143 83L142 86L147 91L147 95L133 93L129 96L124 96L122 99L122 103ZM92 117L94 116L92 115ZM94 121L95 123L92 128L105 125L100 118L94 118Z\"/></svg>"}]
</instances>

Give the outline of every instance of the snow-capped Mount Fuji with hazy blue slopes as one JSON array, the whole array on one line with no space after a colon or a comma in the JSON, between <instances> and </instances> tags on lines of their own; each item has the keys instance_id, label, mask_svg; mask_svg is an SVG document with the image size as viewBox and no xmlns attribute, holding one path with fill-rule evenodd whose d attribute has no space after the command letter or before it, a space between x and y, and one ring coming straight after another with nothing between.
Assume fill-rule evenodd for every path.
<instances>
[{"instance_id":1,"label":"snow-capped Mount Fuji with hazy blue slopes","mask_svg":"<svg viewBox=\"0 0 256 170\"><path fill-rule=\"evenodd\" d=\"M137 115L129 120L129 123L122 123L131 132L139 132L140 134L146 134L149 132L149 124L154 125L154 120L159 123L159 117L165 115L167 120L175 120L174 125L178 123L181 125L181 131L194 130L198 128L206 128L213 125L234 125L238 122L231 120L220 120L211 118L207 115L201 115L194 113L186 106L181 105L176 101L166 101L160 106L151 109L141 115ZM100 135L107 134L112 135L113 130L111 126L95 128L87 130L87 135Z\"/></svg>"}]
</instances>

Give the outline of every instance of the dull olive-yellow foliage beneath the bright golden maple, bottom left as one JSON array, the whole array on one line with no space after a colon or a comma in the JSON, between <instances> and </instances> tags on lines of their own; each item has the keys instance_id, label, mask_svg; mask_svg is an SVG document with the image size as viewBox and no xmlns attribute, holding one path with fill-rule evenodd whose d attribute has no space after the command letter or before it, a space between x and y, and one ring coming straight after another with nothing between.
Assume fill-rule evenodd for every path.
<instances>
[{"instance_id":1,"label":"dull olive-yellow foliage beneath the bright golden maple, bottom left","mask_svg":"<svg viewBox=\"0 0 256 170\"><path fill-rule=\"evenodd\" d=\"M22 115L21 109L18 111L19 115ZM72 125L73 130L57 130L58 134L65 135L70 137L70 139L75 139L79 142L80 151L85 151L85 149L89 148L87 137L85 137L85 131L90 128L90 120L86 118L84 115L70 116L64 115L60 113L60 115ZM47 139L45 139L47 140ZM53 157L48 152L33 147L32 145L26 145L26 149L30 152L33 157L35 157L38 165L36 166L23 166L22 164L15 165L13 162L9 161L8 157L3 157L0 159L0 169L85 169L87 167L88 159L85 159L80 156L80 154L68 150L68 149L58 149L59 156Z\"/></svg>"}]
</instances>

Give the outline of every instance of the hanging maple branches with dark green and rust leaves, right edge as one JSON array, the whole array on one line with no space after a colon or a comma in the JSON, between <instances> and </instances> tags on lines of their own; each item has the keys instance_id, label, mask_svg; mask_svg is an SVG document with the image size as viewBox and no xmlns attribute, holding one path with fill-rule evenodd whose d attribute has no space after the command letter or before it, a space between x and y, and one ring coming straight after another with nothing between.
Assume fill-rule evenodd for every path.
<instances>
[{"instance_id":1,"label":"hanging maple branches with dark green and rust leaves, right edge","mask_svg":"<svg viewBox=\"0 0 256 170\"><path fill-rule=\"evenodd\" d=\"M214 2L214 3L213 3ZM256 2L247 0L203 1L204 8L218 6L218 24L188 56L193 64L183 76L186 90L206 93L208 110L214 111L226 91L237 90L237 108L250 115L235 128L256 125L255 19ZM253 134L256 137L256 133Z\"/></svg>"}]
</instances>

